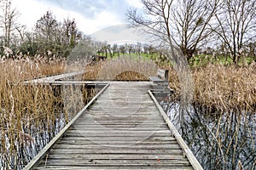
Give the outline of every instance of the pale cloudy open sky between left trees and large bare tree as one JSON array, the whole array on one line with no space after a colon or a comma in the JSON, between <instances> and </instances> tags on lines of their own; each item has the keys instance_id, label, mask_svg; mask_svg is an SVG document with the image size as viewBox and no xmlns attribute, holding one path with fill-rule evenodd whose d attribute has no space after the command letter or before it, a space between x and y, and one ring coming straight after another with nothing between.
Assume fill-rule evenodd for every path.
<instances>
[{"instance_id":1,"label":"pale cloudy open sky between left trees and large bare tree","mask_svg":"<svg viewBox=\"0 0 256 170\"><path fill-rule=\"evenodd\" d=\"M141 8L139 0L13 0L20 22L32 28L47 10L57 20L75 19L79 30L91 34L108 26L124 24L128 8Z\"/></svg>"}]
</instances>

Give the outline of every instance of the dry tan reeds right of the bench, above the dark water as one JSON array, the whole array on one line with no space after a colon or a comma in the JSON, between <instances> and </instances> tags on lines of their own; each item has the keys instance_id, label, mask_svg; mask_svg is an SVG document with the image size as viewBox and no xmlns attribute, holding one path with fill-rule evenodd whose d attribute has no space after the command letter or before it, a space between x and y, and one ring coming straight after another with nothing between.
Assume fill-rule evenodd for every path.
<instances>
[{"instance_id":1,"label":"dry tan reeds right of the bench, above the dark water","mask_svg":"<svg viewBox=\"0 0 256 170\"><path fill-rule=\"evenodd\" d=\"M177 72L169 69L170 87L181 94ZM193 103L207 112L255 111L256 65L207 65L191 70Z\"/></svg>"}]
</instances>

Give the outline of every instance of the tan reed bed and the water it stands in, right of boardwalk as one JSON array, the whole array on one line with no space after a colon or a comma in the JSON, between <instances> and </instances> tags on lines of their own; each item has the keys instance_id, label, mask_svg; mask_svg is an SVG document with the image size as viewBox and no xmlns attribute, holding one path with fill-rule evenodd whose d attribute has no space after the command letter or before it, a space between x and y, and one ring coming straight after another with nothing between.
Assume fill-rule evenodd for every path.
<instances>
[{"instance_id":1,"label":"tan reed bed and the water it stands in, right of boardwalk","mask_svg":"<svg viewBox=\"0 0 256 170\"><path fill-rule=\"evenodd\" d=\"M206 65L191 70L193 100L182 116L177 72L166 68L176 92L166 110L203 167L255 169L256 65Z\"/></svg>"}]
</instances>

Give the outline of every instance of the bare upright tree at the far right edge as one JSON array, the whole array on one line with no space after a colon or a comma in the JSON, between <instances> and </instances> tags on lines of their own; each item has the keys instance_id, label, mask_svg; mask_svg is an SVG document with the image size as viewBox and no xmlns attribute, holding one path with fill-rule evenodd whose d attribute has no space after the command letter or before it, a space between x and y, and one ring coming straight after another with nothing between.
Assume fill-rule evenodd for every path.
<instances>
[{"instance_id":1,"label":"bare upright tree at the far right edge","mask_svg":"<svg viewBox=\"0 0 256 170\"><path fill-rule=\"evenodd\" d=\"M215 15L218 29L212 31L226 44L233 62L237 64L241 48L256 38L256 1L224 0L223 7Z\"/></svg>"}]
</instances>

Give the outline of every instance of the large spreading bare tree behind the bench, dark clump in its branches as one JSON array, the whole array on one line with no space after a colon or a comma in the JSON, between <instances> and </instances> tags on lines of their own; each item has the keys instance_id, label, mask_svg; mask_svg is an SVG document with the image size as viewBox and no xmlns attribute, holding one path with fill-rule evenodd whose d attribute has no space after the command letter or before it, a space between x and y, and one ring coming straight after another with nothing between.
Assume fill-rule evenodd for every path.
<instances>
[{"instance_id":1,"label":"large spreading bare tree behind the bench, dark clump in its branches","mask_svg":"<svg viewBox=\"0 0 256 170\"><path fill-rule=\"evenodd\" d=\"M142 0L143 14L131 8L127 17L133 26L145 26L167 45L181 48L190 59L210 35L208 24L218 9L219 0ZM172 44L174 42L174 44Z\"/></svg>"}]
</instances>

